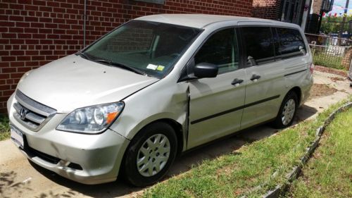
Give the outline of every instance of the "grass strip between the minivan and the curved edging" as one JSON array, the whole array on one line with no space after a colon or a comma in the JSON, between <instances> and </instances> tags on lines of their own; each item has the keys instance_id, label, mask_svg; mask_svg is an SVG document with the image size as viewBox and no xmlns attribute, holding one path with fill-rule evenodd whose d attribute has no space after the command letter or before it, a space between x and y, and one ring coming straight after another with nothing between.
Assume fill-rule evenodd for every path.
<instances>
[{"instance_id":1,"label":"grass strip between the minivan and the curved edging","mask_svg":"<svg viewBox=\"0 0 352 198\"><path fill-rule=\"evenodd\" d=\"M351 100L351 99L350 99ZM246 144L231 154L203 161L190 171L149 188L143 197L260 197L285 182L299 163L315 130L337 109L335 104L315 120L282 130L272 137ZM271 177L276 172L275 177ZM260 189L253 190L261 185Z\"/></svg>"}]
</instances>

